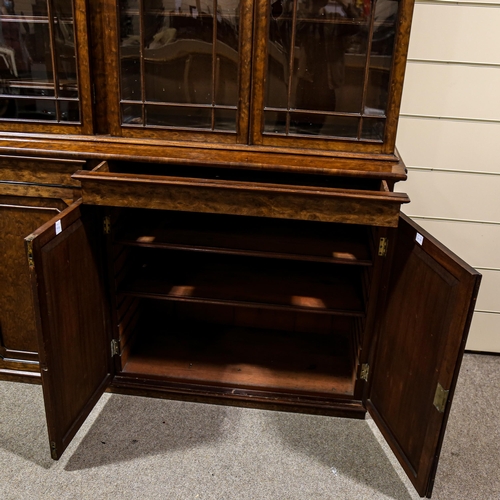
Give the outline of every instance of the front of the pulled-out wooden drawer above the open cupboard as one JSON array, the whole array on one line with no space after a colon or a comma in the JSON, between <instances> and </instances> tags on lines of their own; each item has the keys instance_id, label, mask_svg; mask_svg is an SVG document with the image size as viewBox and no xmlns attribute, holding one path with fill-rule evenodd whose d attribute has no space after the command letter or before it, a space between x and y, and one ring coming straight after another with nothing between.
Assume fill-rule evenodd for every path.
<instances>
[{"instance_id":1,"label":"front of the pulled-out wooden drawer above the open cupboard","mask_svg":"<svg viewBox=\"0 0 500 500\"><path fill-rule=\"evenodd\" d=\"M258 182L120 173L102 162L77 172L83 202L187 212L395 227L405 194ZM113 171L111 171L113 170Z\"/></svg>"}]
</instances>

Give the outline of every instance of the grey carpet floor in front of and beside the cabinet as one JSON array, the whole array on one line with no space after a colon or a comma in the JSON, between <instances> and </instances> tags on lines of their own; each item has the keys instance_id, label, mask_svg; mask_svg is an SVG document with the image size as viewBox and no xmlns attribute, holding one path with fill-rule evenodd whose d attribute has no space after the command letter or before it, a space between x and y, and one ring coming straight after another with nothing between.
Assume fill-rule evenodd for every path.
<instances>
[{"instance_id":1,"label":"grey carpet floor in front of and beside the cabinet","mask_svg":"<svg viewBox=\"0 0 500 500\"><path fill-rule=\"evenodd\" d=\"M500 357L465 357L433 498L500 499ZM0 382L0 498L419 498L373 421L105 394L58 462L39 386Z\"/></svg>"}]
</instances>

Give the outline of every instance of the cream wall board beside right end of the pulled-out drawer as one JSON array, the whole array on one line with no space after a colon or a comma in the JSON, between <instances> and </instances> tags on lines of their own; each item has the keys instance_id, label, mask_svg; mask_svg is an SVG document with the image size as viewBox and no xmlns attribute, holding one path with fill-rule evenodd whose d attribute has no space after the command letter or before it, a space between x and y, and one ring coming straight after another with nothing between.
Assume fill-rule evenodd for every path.
<instances>
[{"instance_id":1,"label":"cream wall board beside right end of the pulled-out drawer","mask_svg":"<svg viewBox=\"0 0 500 500\"><path fill-rule=\"evenodd\" d=\"M409 169L408 180L395 190L410 196L404 210L411 215L500 224L500 174Z\"/></svg>"}]
</instances>

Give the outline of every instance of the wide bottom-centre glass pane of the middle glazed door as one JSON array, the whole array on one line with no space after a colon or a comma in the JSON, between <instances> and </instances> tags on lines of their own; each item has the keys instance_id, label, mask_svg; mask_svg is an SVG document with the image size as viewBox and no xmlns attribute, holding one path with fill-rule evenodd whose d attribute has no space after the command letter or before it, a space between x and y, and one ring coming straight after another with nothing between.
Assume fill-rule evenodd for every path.
<instances>
[{"instance_id":1,"label":"wide bottom-centre glass pane of the middle glazed door","mask_svg":"<svg viewBox=\"0 0 500 500\"><path fill-rule=\"evenodd\" d=\"M146 106L146 125L210 129L212 110L197 107Z\"/></svg>"}]
</instances>

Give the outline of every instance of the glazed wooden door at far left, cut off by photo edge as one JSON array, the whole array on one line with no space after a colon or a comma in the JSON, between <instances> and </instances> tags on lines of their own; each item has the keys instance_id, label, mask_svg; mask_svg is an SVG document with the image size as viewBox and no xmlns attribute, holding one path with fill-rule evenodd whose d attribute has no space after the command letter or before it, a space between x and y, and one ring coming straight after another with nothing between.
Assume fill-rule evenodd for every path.
<instances>
[{"instance_id":1,"label":"glazed wooden door at far left, cut off by photo edge","mask_svg":"<svg viewBox=\"0 0 500 500\"><path fill-rule=\"evenodd\" d=\"M0 7L0 132L92 132L87 2Z\"/></svg>"}]
</instances>

